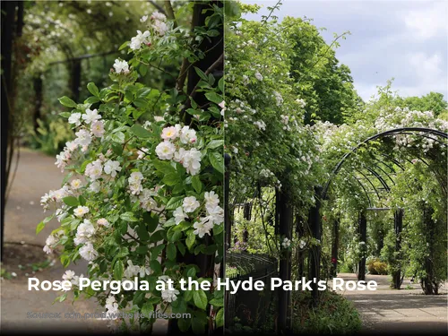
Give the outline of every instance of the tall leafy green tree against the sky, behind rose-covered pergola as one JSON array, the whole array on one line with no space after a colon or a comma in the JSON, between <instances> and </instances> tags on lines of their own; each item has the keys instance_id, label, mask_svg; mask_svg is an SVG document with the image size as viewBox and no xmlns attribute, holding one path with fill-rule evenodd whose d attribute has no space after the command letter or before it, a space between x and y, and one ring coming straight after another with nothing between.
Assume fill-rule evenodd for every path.
<instances>
[{"instance_id":1,"label":"tall leafy green tree against the sky, behind rose-covered pergola","mask_svg":"<svg viewBox=\"0 0 448 336\"><path fill-rule=\"evenodd\" d=\"M329 46L309 21L287 17L281 27L294 52L290 76L297 96L306 100L305 123L322 120L342 124L344 116L350 116L361 103L349 67L339 64L332 49L348 33L336 35Z\"/></svg>"}]
</instances>

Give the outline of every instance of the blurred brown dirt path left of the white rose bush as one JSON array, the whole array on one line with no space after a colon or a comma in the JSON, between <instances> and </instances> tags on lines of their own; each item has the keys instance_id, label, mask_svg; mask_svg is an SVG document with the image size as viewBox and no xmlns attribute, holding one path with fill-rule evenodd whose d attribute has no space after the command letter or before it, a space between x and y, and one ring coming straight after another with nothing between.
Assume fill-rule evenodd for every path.
<instances>
[{"instance_id":1,"label":"blurred brown dirt path left of the white rose bush","mask_svg":"<svg viewBox=\"0 0 448 336\"><path fill-rule=\"evenodd\" d=\"M47 254L42 251L48 234L59 226L52 220L36 236L36 225L45 218L40 207L40 197L50 189L60 188L64 175L55 166L55 159L39 152L21 150L21 158L13 181L5 210L4 223L4 270L7 277L2 280L1 308L3 332L42 332L45 330L72 332L107 332L106 322L82 319L30 319L28 312L81 314L99 312L96 302L79 300L72 305L71 300L63 303L53 301L54 291L28 290L28 278L39 280L61 280L65 269L58 262L48 266ZM11 244L13 243L13 244ZM78 263L69 269L77 274L85 273L86 263ZM7 278L4 276L4 278Z\"/></svg>"}]
</instances>

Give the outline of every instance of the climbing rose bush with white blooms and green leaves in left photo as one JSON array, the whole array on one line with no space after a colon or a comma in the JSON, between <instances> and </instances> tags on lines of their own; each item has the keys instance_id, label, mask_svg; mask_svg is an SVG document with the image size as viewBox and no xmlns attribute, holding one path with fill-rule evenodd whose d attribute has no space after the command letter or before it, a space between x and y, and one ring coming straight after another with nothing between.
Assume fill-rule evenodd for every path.
<instances>
[{"instance_id":1,"label":"climbing rose bush with white blooms and green leaves in left photo","mask_svg":"<svg viewBox=\"0 0 448 336\"><path fill-rule=\"evenodd\" d=\"M49 220L60 227L47 237L44 251L60 251L67 267L78 259L89 262L85 275L67 270L74 299L96 297L108 313L115 330L151 331L156 308L190 313L177 320L181 331L202 332L210 323L222 325L222 292L211 289L181 291L178 281L197 279L194 264L177 263L185 254L213 254L222 260L224 214L221 207L223 178L221 132L222 81L216 82L198 68L201 90L209 98L198 107L182 89L157 90L137 80L153 62L180 61L193 64L200 57L198 46L214 26L222 22L219 8L211 6L209 26L192 32L176 27L161 13L143 16L143 31L126 42L129 60L117 58L112 65L112 85L99 90L90 82L92 94L83 103L63 97L62 105L73 108L61 113L73 127L75 139L56 156L56 166L66 172L62 187L49 191L41 204ZM184 124L183 110L193 117ZM206 240L207 237L207 240ZM148 290L79 290L80 279L139 280ZM157 280L173 280L175 289L157 290ZM209 280L212 279L199 279ZM60 301L67 293L61 293ZM213 308L211 308L211 305ZM210 311L213 313L210 313ZM139 320L116 319L112 313L142 312Z\"/></svg>"}]
</instances>

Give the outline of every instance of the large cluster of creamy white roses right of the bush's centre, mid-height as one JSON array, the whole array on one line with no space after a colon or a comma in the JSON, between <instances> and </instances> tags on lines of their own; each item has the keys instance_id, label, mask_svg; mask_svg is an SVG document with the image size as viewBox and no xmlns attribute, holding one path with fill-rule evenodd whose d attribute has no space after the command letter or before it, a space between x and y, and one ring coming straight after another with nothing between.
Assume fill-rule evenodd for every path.
<instances>
[{"instance_id":1,"label":"large cluster of creamy white roses right of the bush's centre, mid-height","mask_svg":"<svg viewBox=\"0 0 448 336\"><path fill-rule=\"evenodd\" d=\"M194 129L177 124L165 127L162 130L160 142L156 147L156 154L159 159L169 159L181 163L186 172L192 176L201 170L201 151L192 146L197 141ZM185 150L190 148L189 150Z\"/></svg>"}]
</instances>

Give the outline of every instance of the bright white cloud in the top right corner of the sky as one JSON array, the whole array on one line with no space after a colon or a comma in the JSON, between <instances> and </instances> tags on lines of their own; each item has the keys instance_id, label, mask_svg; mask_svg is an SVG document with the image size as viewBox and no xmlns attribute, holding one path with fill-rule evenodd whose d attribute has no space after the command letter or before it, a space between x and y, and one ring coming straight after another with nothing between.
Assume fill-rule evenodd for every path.
<instances>
[{"instance_id":1,"label":"bright white cloud in the top right corner of the sky","mask_svg":"<svg viewBox=\"0 0 448 336\"><path fill-rule=\"evenodd\" d=\"M408 11L404 22L412 33L419 39L431 39L446 34L448 4L435 2L425 4L425 7Z\"/></svg>"}]
</instances>

